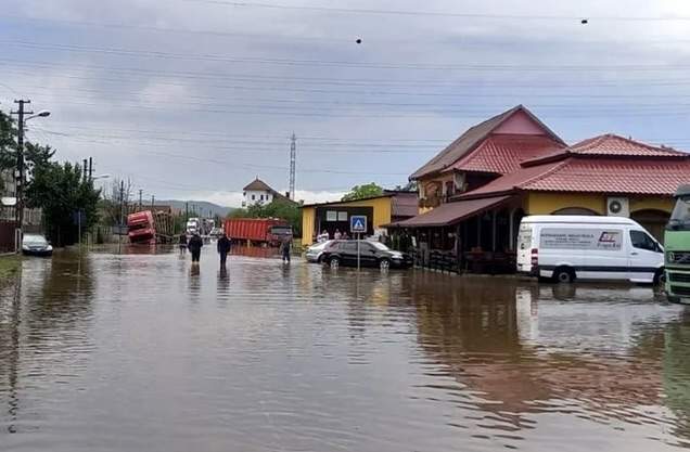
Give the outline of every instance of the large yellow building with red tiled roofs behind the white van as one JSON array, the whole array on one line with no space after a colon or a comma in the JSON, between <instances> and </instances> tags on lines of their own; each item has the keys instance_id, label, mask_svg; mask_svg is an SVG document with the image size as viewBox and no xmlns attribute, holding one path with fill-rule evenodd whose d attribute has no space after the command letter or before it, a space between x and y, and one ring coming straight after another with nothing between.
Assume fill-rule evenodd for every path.
<instances>
[{"instance_id":1,"label":"large yellow building with red tiled roofs behind the white van","mask_svg":"<svg viewBox=\"0 0 690 452\"><path fill-rule=\"evenodd\" d=\"M519 105L470 128L410 179L420 215L392 231L412 231L426 254L510 261L525 215L626 216L662 241L672 196L690 182L690 154L611 133L568 146Z\"/></svg>"}]
</instances>

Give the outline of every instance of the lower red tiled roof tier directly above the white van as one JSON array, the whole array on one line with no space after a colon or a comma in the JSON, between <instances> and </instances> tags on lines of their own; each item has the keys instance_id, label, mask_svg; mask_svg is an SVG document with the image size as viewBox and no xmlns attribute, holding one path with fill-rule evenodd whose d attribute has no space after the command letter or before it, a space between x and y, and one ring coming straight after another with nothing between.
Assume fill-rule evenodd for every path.
<instances>
[{"instance_id":1,"label":"lower red tiled roof tier directly above the white van","mask_svg":"<svg viewBox=\"0 0 690 452\"><path fill-rule=\"evenodd\" d=\"M523 168L458 198L491 196L515 190L669 196L678 185L688 181L690 160L568 157Z\"/></svg>"}]
</instances>

